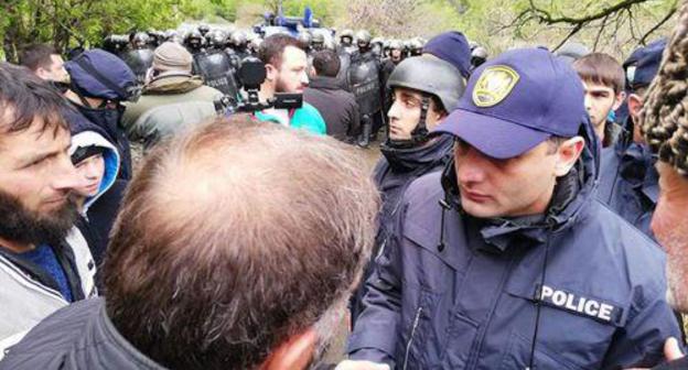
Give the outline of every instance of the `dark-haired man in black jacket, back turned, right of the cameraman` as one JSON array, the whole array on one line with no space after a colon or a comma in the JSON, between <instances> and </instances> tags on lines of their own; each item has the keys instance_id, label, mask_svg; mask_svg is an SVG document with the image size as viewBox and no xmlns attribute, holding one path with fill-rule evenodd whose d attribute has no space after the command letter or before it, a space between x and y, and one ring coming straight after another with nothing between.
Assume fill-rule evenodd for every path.
<instances>
[{"instance_id":1,"label":"dark-haired man in black jacket, back turned, right of the cameraman","mask_svg":"<svg viewBox=\"0 0 688 370\"><path fill-rule=\"evenodd\" d=\"M353 143L359 134L361 116L356 98L336 78L340 67L340 57L334 51L314 53L311 81L303 91L303 100L320 111L329 135Z\"/></svg>"}]
</instances>

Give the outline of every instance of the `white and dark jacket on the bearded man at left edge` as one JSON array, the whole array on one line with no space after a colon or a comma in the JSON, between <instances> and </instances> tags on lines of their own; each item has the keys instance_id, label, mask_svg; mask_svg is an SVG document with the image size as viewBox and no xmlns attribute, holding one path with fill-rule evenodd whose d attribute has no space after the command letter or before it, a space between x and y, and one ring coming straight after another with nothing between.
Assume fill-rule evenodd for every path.
<instances>
[{"instance_id":1,"label":"white and dark jacket on the bearded man at left edge","mask_svg":"<svg viewBox=\"0 0 688 370\"><path fill-rule=\"evenodd\" d=\"M97 295L96 264L86 240L73 228L64 242L52 246L65 270L75 301ZM33 326L69 303L55 280L34 263L0 248L0 359L3 350L18 342Z\"/></svg>"}]
</instances>

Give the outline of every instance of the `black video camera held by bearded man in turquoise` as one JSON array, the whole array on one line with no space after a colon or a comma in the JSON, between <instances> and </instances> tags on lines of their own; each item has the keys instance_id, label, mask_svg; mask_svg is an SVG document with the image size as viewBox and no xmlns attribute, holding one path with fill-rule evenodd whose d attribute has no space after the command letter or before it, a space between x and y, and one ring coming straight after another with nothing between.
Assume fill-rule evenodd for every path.
<instances>
[{"instance_id":1,"label":"black video camera held by bearded man in turquoise","mask_svg":"<svg viewBox=\"0 0 688 370\"><path fill-rule=\"evenodd\" d=\"M268 101L260 101L258 91L260 85L266 79L266 67L260 59L255 56L247 56L241 61L239 67L239 80L246 90L246 98L237 101L236 97L224 95L216 99L215 110L218 115L230 115L234 112L255 112L268 108L298 109L303 105L303 95L292 92L276 92L275 97Z\"/></svg>"}]
</instances>

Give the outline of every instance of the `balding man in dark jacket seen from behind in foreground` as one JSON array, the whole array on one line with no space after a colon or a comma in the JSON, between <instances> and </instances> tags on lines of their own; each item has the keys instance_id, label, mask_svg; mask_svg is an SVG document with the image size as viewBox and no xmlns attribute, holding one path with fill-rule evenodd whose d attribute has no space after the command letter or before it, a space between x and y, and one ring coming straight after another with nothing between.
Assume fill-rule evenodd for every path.
<instances>
[{"instance_id":1,"label":"balding man in dark jacket seen from behind in foreground","mask_svg":"<svg viewBox=\"0 0 688 370\"><path fill-rule=\"evenodd\" d=\"M246 115L174 137L131 182L107 296L45 319L0 369L316 366L375 236L359 161Z\"/></svg>"}]
</instances>

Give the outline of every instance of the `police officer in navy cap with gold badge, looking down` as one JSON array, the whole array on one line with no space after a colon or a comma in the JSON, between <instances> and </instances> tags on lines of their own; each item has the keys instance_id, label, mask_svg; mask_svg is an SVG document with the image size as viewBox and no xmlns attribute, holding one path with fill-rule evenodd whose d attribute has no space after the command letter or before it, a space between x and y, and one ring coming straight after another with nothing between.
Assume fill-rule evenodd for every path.
<instances>
[{"instance_id":1,"label":"police officer in navy cap with gold badge, looking down","mask_svg":"<svg viewBox=\"0 0 688 370\"><path fill-rule=\"evenodd\" d=\"M576 72L541 48L477 68L438 127L453 163L415 181L348 342L398 369L652 366L679 335L664 254L594 200Z\"/></svg>"}]
</instances>

